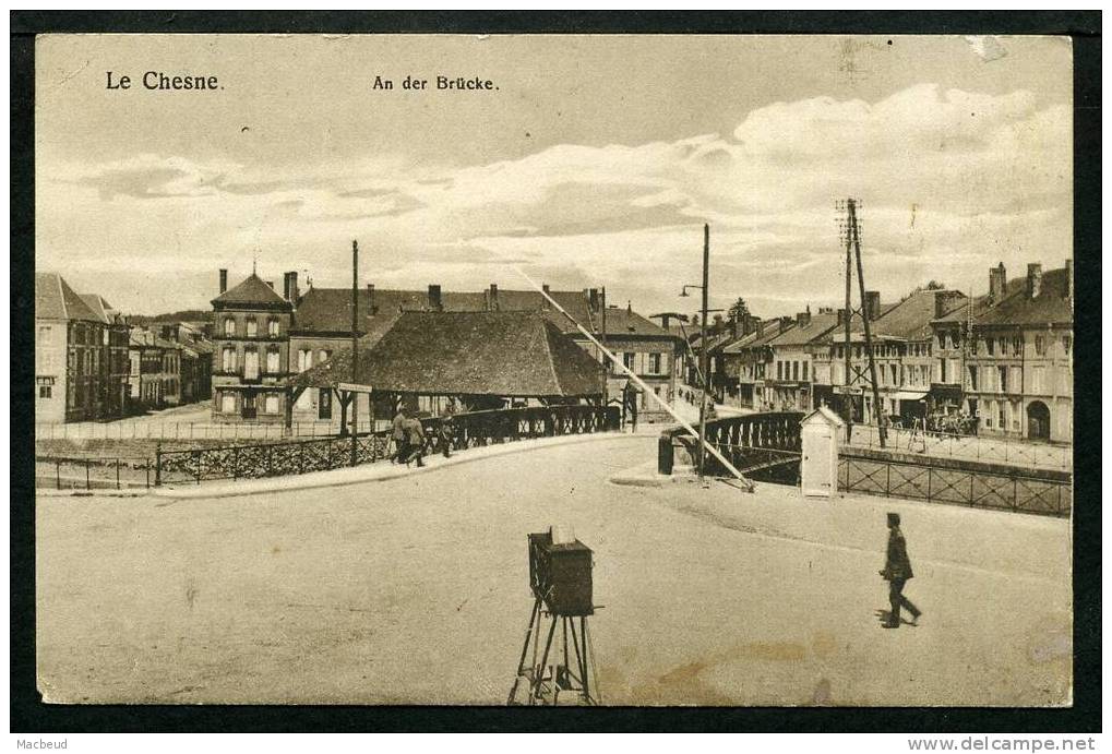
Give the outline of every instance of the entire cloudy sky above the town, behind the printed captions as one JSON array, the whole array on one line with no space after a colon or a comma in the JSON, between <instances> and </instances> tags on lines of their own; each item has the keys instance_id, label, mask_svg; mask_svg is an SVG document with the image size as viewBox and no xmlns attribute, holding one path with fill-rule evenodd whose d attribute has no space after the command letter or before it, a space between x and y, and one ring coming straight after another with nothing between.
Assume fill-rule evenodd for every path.
<instances>
[{"instance_id":1,"label":"entire cloudy sky above the town, behind the printed captions","mask_svg":"<svg viewBox=\"0 0 1112 754\"><path fill-rule=\"evenodd\" d=\"M777 316L837 304L846 196L886 300L1072 256L1063 39L66 36L37 56L37 267L135 314L207 307L255 258L279 286L349 285L351 239L380 287L525 287L518 265L689 312L709 222L712 306ZM149 70L224 88L147 91Z\"/></svg>"}]
</instances>

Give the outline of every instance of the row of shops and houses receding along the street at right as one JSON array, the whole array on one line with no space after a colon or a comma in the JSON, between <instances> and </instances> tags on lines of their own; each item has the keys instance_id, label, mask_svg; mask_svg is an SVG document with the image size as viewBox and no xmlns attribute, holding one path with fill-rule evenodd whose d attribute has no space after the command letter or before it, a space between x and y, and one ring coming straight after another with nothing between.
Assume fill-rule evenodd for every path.
<instances>
[{"instance_id":1,"label":"row of shops and houses receding along the street at right","mask_svg":"<svg viewBox=\"0 0 1112 754\"><path fill-rule=\"evenodd\" d=\"M1073 268L1027 265L1009 280L1003 264L989 292L916 290L895 304L875 291L862 315L810 309L762 320L745 315L707 338L721 400L766 410L847 408L858 423L913 423L979 434L1072 442ZM846 330L848 329L848 336ZM703 344L696 338L697 353ZM880 406L874 406L875 379Z\"/></svg>"}]
</instances>

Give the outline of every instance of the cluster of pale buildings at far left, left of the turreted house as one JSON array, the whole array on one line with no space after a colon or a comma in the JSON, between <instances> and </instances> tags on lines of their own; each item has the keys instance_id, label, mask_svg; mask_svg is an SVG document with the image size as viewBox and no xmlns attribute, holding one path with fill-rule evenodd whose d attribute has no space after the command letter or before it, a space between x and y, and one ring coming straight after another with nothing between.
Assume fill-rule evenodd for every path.
<instances>
[{"instance_id":1,"label":"cluster of pale buildings at far left, left of the turreted house","mask_svg":"<svg viewBox=\"0 0 1112 754\"><path fill-rule=\"evenodd\" d=\"M211 395L202 327L135 326L56 272L34 276L34 324L37 421L110 421Z\"/></svg>"}]
</instances>

